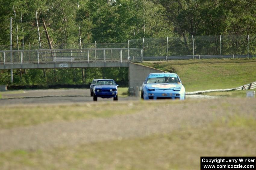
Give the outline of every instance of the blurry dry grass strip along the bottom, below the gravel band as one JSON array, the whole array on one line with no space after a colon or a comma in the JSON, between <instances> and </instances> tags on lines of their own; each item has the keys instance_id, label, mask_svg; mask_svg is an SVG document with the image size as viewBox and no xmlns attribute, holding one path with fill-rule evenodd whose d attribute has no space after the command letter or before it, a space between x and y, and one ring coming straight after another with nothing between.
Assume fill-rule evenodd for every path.
<instances>
[{"instance_id":1,"label":"blurry dry grass strip along the bottom, below the gravel band","mask_svg":"<svg viewBox=\"0 0 256 170\"><path fill-rule=\"evenodd\" d=\"M8 162L11 169L200 169L200 156L255 156L256 126L248 122L239 127L230 119L144 138L0 152L0 167Z\"/></svg>"}]
</instances>

